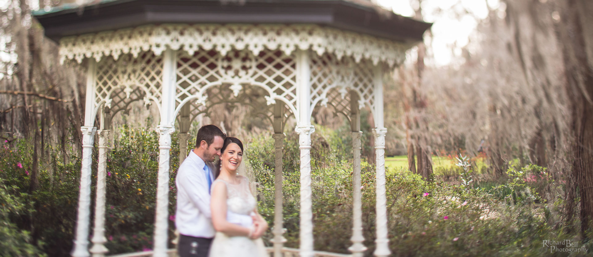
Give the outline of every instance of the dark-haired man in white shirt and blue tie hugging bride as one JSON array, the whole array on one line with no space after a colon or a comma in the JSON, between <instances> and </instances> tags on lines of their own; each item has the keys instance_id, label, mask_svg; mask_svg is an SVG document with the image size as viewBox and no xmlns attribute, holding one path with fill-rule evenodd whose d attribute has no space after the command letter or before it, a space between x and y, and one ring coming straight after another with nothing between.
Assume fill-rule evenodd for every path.
<instances>
[{"instance_id":1,"label":"dark-haired man in white shirt and blue tie hugging bride","mask_svg":"<svg viewBox=\"0 0 593 257\"><path fill-rule=\"evenodd\" d=\"M210 188L215 172L212 162L216 155L221 155L226 137L215 125L202 126L197 131L196 148L190 151L177 172L175 224L180 234L177 244L180 257L208 257L215 234L210 212ZM228 213L227 220L245 227L254 225L254 238L264 233L264 226L251 216Z\"/></svg>"}]
</instances>

